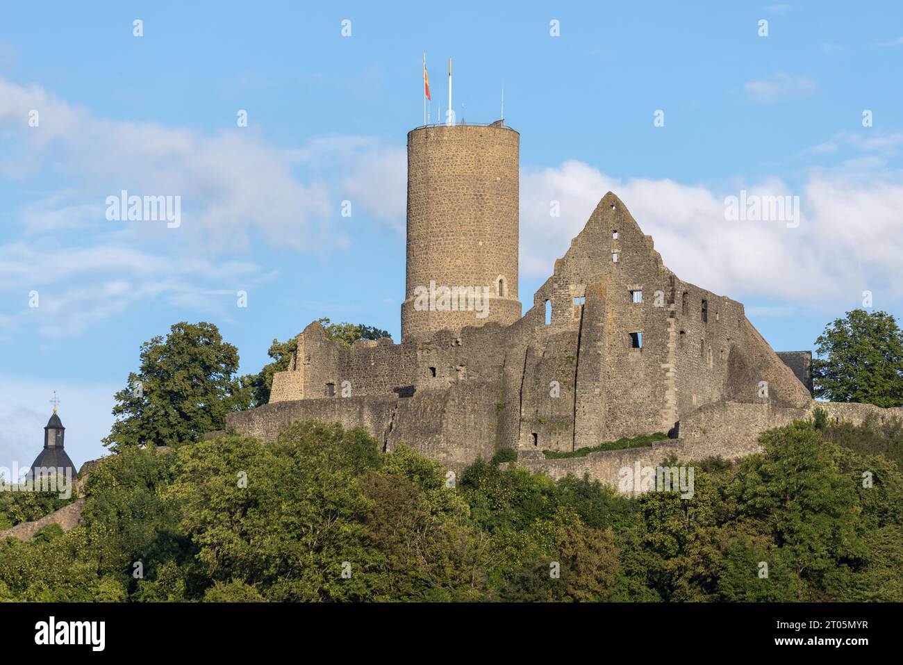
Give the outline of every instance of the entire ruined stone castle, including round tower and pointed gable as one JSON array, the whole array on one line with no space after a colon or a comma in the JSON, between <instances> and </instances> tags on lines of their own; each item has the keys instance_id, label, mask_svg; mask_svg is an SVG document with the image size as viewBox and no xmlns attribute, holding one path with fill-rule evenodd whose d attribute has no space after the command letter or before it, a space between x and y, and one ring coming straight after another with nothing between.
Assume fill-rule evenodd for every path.
<instances>
[{"instance_id":1,"label":"entire ruined stone castle, including round tower and pointed gable","mask_svg":"<svg viewBox=\"0 0 903 665\"><path fill-rule=\"evenodd\" d=\"M743 305L665 267L611 192L521 316L518 142L498 123L412 131L402 342L345 347L311 323L270 403L231 414L228 426L272 440L284 424L318 418L363 426L383 450L404 442L455 470L507 447L531 468L579 467L610 482L608 466L542 451L667 432L683 459L737 456L755 450L768 423L808 412L811 385ZM431 281L489 287L489 315L415 307L414 288ZM703 418L717 431L701 428Z\"/></svg>"}]
</instances>

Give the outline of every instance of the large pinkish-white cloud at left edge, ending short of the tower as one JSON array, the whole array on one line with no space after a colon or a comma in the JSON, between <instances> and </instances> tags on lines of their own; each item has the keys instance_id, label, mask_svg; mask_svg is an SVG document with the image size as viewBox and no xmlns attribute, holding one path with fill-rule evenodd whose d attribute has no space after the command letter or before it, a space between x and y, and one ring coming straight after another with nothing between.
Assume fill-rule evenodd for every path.
<instances>
[{"instance_id":1,"label":"large pinkish-white cloud at left edge, ending short of the tower","mask_svg":"<svg viewBox=\"0 0 903 665\"><path fill-rule=\"evenodd\" d=\"M37 127L28 125L32 110L39 114ZM249 230L259 229L281 246L330 245L333 206L325 184L300 183L289 151L265 145L253 129L203 136L102 119L41 88L2 78L0 127L12 135L5 139L0 173L24 179L53 171L79 192L77 206L54 208L51 197L34 205L40 214L26 211L23 222L38 229L106 222L98 214L106 197L127 190L182 197L182 226L159 225L158 238L182 233L186 242L214 249L244 248Z\"/></svg>"}]
</instances>

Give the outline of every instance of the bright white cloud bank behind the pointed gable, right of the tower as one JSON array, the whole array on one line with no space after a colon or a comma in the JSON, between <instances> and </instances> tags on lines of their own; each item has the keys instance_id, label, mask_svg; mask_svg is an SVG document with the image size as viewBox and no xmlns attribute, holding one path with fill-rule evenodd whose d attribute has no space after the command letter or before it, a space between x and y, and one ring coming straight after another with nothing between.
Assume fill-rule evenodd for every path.
<instances>
[{"instance_id":1,"label":"bright white cloud bank behind the pointed gable, right of the tower","mask_svg":"<svg viewBox=\"0 0 903 665\"><path fill-rule=\"evenodd\" d=\"M589 219L605 192L615 192L655 239L667 267L682 279L736 298L793 304L849 302L852 293L903 293L903 179L814 173L801 192L778 180L712 192L670 180L621 181L581 162L521 176L520 259L525 276L549 276L554 260ZM724 197L799 195L801 222L725 220ZM560 201L561 217L550 216Z\"/></svg>"}]
</instances>

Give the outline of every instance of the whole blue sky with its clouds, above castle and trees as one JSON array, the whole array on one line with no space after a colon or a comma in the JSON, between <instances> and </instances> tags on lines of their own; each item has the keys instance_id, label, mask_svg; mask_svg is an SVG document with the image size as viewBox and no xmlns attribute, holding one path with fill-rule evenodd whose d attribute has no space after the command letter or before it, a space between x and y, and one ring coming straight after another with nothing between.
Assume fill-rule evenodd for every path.
<instances>
[{"instance_id":1,"label":"whole blue sky with its clouds, above castle and trees","mask_svg":"<svg viewBox=\"0 0 903 665\"><path fill-rule=\"evenodd\" d=\"M186 5L0 6L0 465L37 454L53 389L74 461L103 454L172 323L219 325L245 372L324 315L397 341L424 52L433 117L450 55L459 117L497 119L504 81L525 306L612 190L777 350L864 290L903 314L898 3ZM181 196L182 225L107 220L121 190ZM799 227L725 220L741 190L799 196Z\"/></svg>"}]
</instances>

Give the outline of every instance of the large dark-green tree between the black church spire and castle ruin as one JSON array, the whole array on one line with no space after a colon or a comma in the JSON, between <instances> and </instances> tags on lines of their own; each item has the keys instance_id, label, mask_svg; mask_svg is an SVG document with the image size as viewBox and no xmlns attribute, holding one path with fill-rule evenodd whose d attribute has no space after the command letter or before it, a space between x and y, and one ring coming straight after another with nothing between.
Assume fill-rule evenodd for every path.
<instances>
[{"instance_id":1,"label":"large dark-green tree between the black church spire and castle ruin","mask_svg":"<svg viewBox=\"0 0 903 665\"><path fill-rule=\"evenodd\" d=\"M176 323L163 339L141 346L137 372L116 393L116 416L104 445L173 445L226 426L226 414L247 408L251 387L233 375L238 351L212 323Z\"/></svg>"}]
</instances>

